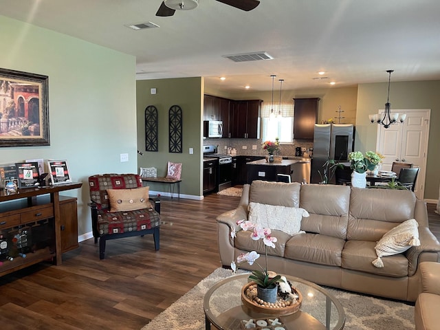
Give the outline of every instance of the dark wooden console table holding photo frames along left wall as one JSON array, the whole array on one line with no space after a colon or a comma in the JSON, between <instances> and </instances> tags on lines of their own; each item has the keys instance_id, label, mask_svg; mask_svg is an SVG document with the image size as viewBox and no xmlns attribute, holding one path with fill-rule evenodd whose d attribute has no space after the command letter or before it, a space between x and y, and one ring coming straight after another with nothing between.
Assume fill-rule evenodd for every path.
<instances>
[{"instance_id":1,"label":"dark wooden console table holding photo frames along left wall","mask_svg":"<svg viewBox=\"0 0 440 330\"><path fill-rule=\"evenodd\" d=\"M0 192L0 233L10 236L20 228L30 228L32 252L25 257L4 260L0 276L52 259L61 265L62 254L78 248L78 213L75 197L59 192L77 189L82 183L61 184L47 188L19 189L19 193ZM12 241L8 237L8 248Z\"/></svg>"}]
</instances>

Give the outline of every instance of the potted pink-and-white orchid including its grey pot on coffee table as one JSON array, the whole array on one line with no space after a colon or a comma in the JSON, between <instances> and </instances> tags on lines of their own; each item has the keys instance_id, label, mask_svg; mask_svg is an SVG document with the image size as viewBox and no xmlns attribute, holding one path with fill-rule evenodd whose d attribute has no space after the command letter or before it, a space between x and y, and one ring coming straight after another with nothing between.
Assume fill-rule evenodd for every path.
<instances>
[{"instance_id":1,"label":"potted pink-and-white orchid including its grey pot on coffee table","mask_svg":"<svg viewBox=\"0 0 440 330\"><path fill-rule=\"evenodd\" d=\"M241 263L249 263L249 265L255 263L258 265L261 270L254 270L252 275L249 276L249 279L256 283L259 298L267 303L275 303L278 289L276 283L283 280L280 275L272 276L272 272L267 270L267 248L275 248L274 243L276 243L277 239L276 237L271 236L270 228L261 228L260 225L254 225L251 221L241 220L237 222L237 225L240 225L243 230L252 230L250 236L254 241L263 239L265 245L265 267L262 267L256 262L256 259L259 259L260 254L256 251L251 251L245 254L240 254L236 259L236 263L235 261L232 261L232 271L236 272L237 264L240 265ZM231 233L231 236L232 238L235 237L234 231Z\"/></svg>"}]
</instances>

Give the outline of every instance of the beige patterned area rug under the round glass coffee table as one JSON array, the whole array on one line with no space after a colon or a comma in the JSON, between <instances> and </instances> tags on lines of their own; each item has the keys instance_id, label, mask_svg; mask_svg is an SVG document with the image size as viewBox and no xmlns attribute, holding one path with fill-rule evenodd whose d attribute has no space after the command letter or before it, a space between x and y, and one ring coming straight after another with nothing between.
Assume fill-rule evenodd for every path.
<instances>
[{"instance_id":1,"label":"beige patterned area rug under the round glass coffee table","mask_svg":"<svg viewBox=\"0 0 440 330\"><path fill-rule=\"evenodd\" d=\"M228 276L231 276L230 270L217 268L141 330L205 329L203 296L212 285ZM344 330L414 329L414 307L410 304L329 287L326 289L336 296L344 307Z\"/></svg>"}]
</instances>

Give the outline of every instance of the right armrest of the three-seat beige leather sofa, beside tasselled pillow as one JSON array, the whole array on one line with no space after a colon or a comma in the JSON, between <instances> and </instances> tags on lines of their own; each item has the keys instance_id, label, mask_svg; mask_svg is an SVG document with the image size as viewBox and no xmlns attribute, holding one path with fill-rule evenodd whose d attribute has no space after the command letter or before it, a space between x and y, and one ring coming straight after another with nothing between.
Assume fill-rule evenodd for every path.
<instances>
[{"instance_id":1,"label":"right armrest of the three-seat beige leather sofa, beside tasselled pillow","mask_svg":"<svg viewBox=\"0 0 440 330\"><path fill-rule=\"evenodd\" d=\"M419 240L419 246L412 246L406 251L406 258L408 258L408 276L414 275L417 271L422 253L431 255L429 261L440 261L440 243L428 227L419 226ZM423 260L428 261L426 259Z\"/></svg>"}]
</instances>

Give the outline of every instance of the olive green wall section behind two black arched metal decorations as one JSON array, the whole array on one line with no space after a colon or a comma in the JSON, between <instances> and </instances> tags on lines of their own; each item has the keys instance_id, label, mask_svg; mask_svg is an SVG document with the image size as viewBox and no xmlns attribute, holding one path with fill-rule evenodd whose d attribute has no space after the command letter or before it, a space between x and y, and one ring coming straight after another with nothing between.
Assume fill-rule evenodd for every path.
<instances>
[{"instance_id":1,"label":"olive green wall section behind two black arched metal decorations","mask_svg":"<svg viewBox=\"0 0 440 330\"><path fill-rule=\"evenodd\" d=\"M156 89L156 94L151 94L152 88ZM136 95L137 146L144 154L137 155L138 166L155 167L157 176L163 177L168 162L181 163L181 197L203 199L203 78L137 80ZM154 105L158 112L158 152L145 151L145 109L148 105ZM170 153L168 147L168 111L173 105L181 107L183 113L182 153ZM189 148L194 150L192 155ZM148 182L148 186L155 192L169 192L166 184Z\"/></svg>"}]
</instances>

